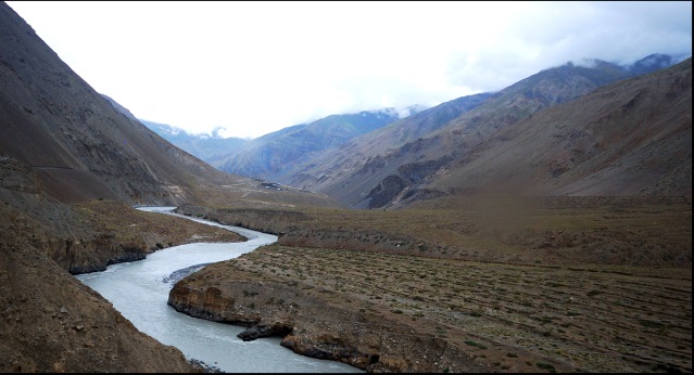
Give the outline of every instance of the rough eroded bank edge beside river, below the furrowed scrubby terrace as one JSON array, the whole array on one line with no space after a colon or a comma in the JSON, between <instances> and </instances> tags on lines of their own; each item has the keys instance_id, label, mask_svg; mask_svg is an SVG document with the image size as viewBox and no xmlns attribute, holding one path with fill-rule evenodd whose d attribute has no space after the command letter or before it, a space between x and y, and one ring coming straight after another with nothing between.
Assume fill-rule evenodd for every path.
<instances>
[{"instance_id":1,"label":"rough eroded bank edge beside river, below the furrowed scrubby terrace","mask_svg":"<svg viewBox=\"0 0 694 375\"><path fill-rule=\"evenodd\" d=\"M485 371L459 347L416 325L355 309L308 284L261 280L236 264L211 264L179 281L168 305L191 316L247 326L239 335L244 340L281 336L281 345L296 353L368 372Z\"/></svg>"}]
</instances>

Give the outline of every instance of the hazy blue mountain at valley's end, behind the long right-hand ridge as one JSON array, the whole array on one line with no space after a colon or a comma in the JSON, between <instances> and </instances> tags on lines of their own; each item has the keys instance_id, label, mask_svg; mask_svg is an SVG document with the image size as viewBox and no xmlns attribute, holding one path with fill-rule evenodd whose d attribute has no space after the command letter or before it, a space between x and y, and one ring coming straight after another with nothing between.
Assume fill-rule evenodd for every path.
<instances>
[{"instance_id":1,"label":"hazy blue mountain at valley's end, behind the long right-hand ridge","mask_svg":"<svg viewBox=\"0 0 694 375\"><path fill-rule=\"evenodd\" d=\"M409 116L420 111L420 107L411 106L406 111ZM206 160L229 173L281 179L293 165L311 158L313 154L338 147L354 137L398 120L400 116L395 108L331 115L256 138Z\"/></svg>"}]
</instances>

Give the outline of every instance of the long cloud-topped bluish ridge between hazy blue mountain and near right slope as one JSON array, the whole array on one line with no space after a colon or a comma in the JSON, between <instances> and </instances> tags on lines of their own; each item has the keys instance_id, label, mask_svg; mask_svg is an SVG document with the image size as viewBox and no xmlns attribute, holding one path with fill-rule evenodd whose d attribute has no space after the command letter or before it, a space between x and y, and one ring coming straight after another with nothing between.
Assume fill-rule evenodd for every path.
<instances>
[{"instance_id":1,"label":"long cloud-topped bluish ridge between hazy blue mountain and near right slope","mask_svg":"<svg viewBox=\"0 0 694 375\"><path fill-rule=\"evenodd\" d=\"M440 170L449 170L447 166L464 160L502 129L607 83L634 77L633 66L639 67L639 73L648 66L651 72L661 66L648 61L664 60L652 55L632 67L593 60L545 69L489 95L480 105L455 118L444 118L444 124L417 139L403 143L402 138L393 137L412 127L405 121L395 122L389 127L392 128L389 134L373 132L357 137L306 160L286 180L278 181L326 193L353 208L390 207L415 194L420 198L445 195L446 192L424 186ZM449 104L419 115L436 116Z\"/></svg>"}]
</instances>

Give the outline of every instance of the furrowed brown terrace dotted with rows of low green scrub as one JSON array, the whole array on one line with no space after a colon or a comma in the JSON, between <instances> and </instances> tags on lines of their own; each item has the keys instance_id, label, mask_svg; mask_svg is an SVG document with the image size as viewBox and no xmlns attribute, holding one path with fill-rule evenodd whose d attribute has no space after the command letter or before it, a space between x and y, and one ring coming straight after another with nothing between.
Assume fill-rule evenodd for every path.
<instances>
[{"instance_id":1,"label":"furrowed brown terrace dotted with rows of low green scrub","mask_svg":"<svg viewBox=\"0 0 694 375\"><path fill-rule=\"evenodd\" d=\"M691 270L620 270L273 245L210 266L191 285L218 287L265 324L282 315L337 341L368 332L446 348L417 359L417 350L371 339L369 350L389 353L381 362L391 370L691 372ZM302 323L302 309L319 316ZM344 316L361 321L350 326Z\"/></svg>"}]
</instances>

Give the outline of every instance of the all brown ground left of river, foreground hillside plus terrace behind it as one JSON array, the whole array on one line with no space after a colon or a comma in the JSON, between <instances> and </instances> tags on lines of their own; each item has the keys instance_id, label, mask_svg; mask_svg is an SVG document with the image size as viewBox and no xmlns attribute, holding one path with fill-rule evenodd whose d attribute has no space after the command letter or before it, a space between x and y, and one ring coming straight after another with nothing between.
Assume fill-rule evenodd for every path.
<instances>
[{"instance_id":1,"label":"all brown ground left of river, foreground hillside plus terrace behind it","mask_svg":"<svg viewBox=\"0 0 694 375\"><path fill-rule=\"evenodd\" d=\"M0 198L0 372L201 371L68 271L239 235L109 201L68 206L2 189Z\"/></svg>"}]
</instances>

